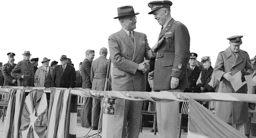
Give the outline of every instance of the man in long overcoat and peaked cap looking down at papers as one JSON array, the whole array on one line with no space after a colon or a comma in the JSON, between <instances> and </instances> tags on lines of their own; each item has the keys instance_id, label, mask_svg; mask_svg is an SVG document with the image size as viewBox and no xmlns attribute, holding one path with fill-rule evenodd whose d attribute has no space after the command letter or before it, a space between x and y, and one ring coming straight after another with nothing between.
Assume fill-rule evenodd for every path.
<instances>
[{"instance_id":1,"label":"man in long overcoat and peaked cap looking down at papers","mask_svg":"<svg viewBox=\"0 0 256 138\"><path fill-rule=\"evenodd\" d=\"M230 83L233 76L242 72L244 75L253 73L249 54L240 49L243 35L228 37L229 47L219 52L215 66L214 76L220 81L218 92L247 94L247 84L235 91ZM241 80L241 83L242 83ZM248 103L246 102L216 102L215 115L228 124L236 124L236 129L244 134L244 123L249 121Z\"/></svg>"}]
</instances>

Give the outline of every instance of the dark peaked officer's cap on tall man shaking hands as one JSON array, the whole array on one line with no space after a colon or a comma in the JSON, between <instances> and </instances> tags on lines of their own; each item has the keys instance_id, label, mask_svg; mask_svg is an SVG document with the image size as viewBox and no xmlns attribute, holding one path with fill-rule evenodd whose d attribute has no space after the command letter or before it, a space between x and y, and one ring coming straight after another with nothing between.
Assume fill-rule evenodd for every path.
<instances>
[{"instance_id":1,"label":"dark peaked officer's cap on tall man shaking hands","mask_svg":"<svg viewBox=\"0 0 256 138\"><path fill-rule=\"evenodd\" d=\"M172 2L169 0L163 1L152 1L148 3L148 7L151 9L148 14L152 14L153 11L160 9L160 8L170 8L172 6Z\"/></svg>"}]
</instances>

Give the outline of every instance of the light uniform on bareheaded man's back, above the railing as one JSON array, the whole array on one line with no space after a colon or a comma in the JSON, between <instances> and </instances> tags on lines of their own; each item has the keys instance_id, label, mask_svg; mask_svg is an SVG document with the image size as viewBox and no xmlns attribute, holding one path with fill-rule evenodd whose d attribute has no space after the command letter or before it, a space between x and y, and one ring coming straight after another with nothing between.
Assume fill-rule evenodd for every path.
<instances>
[{"instance_id":1,"label":"light uniform on bareheaded man's back, above the railing","mask_svg":"<svg viewBox=\"0 0 256 138\"><path fill-rule=\"evenodd\" d=\"M100 56L92 62L91 81L93 90L104 90L108 70L108 59Z\"/></svg>"}]
</instances>

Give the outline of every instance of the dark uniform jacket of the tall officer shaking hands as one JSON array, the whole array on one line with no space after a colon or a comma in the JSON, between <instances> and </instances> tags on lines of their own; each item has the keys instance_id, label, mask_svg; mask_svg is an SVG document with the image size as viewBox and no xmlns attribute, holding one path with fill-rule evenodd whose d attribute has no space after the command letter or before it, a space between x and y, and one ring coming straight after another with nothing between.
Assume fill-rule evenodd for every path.
<instances>
[{"instance_id":1,"label":"dark uniform jacket of the tall officer shaking hands","mask_svg":"<svg viewBox=\"0 0 256 138\"><path fill-rule=\"evenodd\" d=\"M150 61L150 71L155 70L154 90L183 92L188 86L187 66L190 57L190 36L188 28L173 18L160 33L158 41L164 41L156 51L155 61ZM179 85L171 89L172 77L178 78Z\"/></svg>"}]
</instances>

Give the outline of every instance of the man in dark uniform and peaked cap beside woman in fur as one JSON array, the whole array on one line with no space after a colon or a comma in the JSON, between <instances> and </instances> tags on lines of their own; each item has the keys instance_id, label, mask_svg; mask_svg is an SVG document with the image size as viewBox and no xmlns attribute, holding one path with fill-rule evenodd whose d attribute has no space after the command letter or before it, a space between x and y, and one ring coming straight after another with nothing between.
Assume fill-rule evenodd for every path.
<instances>
[{"instance_id":1,"label":"man in dark uniform and peaked cap beside woman in fur","mask_svg":"<svg viewBox=\"0 0 256 138\"><path fill-rule=\"evenodd\" d=\"M189 65L187 67L189 88L185 88L184 92L197 92L196 81L199 78L199 75L202 70L196 66L196 62L197 62L196 58L197 58L197 54L191 52L190 59L189 59Z\"/></svg>"}]
</instances>

